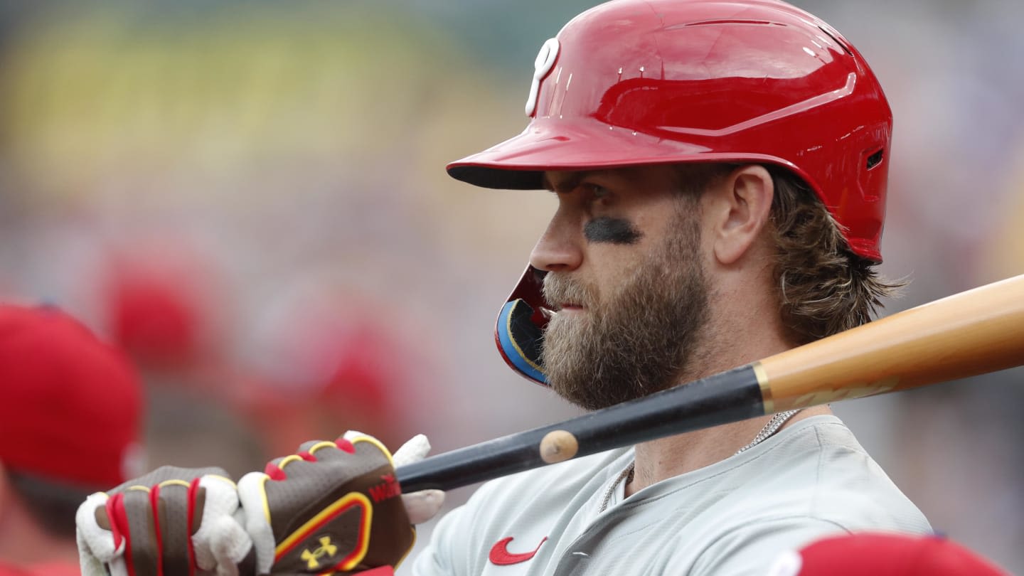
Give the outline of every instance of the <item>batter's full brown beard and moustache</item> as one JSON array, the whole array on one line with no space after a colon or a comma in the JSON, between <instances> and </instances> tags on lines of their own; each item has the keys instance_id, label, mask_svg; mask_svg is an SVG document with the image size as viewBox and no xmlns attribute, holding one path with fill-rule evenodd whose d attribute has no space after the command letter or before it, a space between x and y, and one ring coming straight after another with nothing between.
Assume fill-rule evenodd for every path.
<instances>
[{"instance_id":1,"label":"batter's full brown beard and moustache","mask_svg":"<svg viewBox=\"0 0 1024 576\"><path fill-rule=\"evenodd\" d=\"M708 322L708 286L698 219L676 218L665 243L605 301L567 276L545 277L548 302L586 308L557 315L545 330L542 363L559 396L599 410L680 383L674 378L692 362Z\"/></svg>"}]
</instances>

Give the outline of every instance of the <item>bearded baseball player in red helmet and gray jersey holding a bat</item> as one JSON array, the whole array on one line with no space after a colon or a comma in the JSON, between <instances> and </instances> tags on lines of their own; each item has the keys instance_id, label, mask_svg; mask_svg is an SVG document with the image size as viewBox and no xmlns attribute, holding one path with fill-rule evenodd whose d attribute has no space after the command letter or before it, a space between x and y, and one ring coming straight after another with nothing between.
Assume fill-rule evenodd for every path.
<instances>
[{"instance_id":1,"label":"bearded baseball player in red helmet and gray jersey holding a bat","mask_svg":"<svg viewBox=\"0 0 1024 576\"><path fill-rule=\"evenodd\" d=\"M497 340L601 409L867 322L892 116L863 57L778 0L613 0L544 43L525 130L447 167L558 201ZM241 479L161 469L79 511L87 574L390 573L438 494L348 433ZM400 496L400 497L399 497ZM182 532L182 528L189 530ZM413 572L764 574L834 534L926 534L827 407L720 425L485 484Z\"/></svg>"}]
</instances>

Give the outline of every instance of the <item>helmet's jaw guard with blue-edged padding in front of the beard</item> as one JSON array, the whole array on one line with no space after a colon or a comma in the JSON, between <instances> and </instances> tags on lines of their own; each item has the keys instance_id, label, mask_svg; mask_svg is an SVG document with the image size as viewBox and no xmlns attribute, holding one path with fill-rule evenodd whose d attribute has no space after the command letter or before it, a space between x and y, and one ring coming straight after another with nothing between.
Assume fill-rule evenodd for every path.
<instances>
[{"instance_id":1,"label":"helmet's jaw guard with blue-edged padding in front of the beard","mask_svg":"<svg viewBox=\"0 0 1024 576\"><path fill-rule=\"evenodd\" d=\"M498 314L495 343L510 368L524 378L547 386L547 374L541 365L544 328L550 315L544 300L545 274L534 266L526 266Z\"/></svg>"}]
</instances>

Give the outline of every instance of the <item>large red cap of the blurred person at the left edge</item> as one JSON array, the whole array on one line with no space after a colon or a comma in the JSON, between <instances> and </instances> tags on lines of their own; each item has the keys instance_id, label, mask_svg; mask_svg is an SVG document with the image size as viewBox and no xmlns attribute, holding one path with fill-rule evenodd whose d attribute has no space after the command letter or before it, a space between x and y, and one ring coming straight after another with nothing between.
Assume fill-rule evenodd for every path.
<instances>
[{"instance_id":1,"label":"large red cap of the blurred person at the left edge","mask_svg":"<svg viewBox=\"0 0 1024 576\"><path fill-rule=\"evenodd\" d=\"M0 398L5 467L87 488L136 476L138 375L74 318L0 305Z\"/></svg>"}]
</instances>

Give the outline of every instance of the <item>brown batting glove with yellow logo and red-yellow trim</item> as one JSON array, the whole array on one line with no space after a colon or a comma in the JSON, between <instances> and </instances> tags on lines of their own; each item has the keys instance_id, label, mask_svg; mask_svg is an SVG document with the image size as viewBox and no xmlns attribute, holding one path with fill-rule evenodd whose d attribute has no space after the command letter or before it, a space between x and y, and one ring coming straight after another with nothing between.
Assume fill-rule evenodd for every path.
<instances>
[{"instance_id":1,"label":"brown batting glove with yellow logo and red-yellow trim","mask_svg":"<svg viewBox=\"0 0 1024 576\"><path fill-rule=\"evenodd\" d=\"M239 498L260 575L390 574L416 539L390 452L357 431L246 475Z\"/></svg>"}]
</instances>

